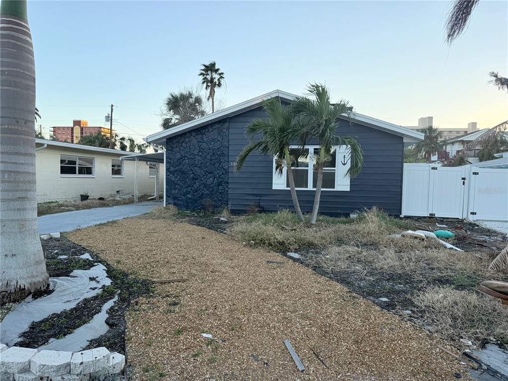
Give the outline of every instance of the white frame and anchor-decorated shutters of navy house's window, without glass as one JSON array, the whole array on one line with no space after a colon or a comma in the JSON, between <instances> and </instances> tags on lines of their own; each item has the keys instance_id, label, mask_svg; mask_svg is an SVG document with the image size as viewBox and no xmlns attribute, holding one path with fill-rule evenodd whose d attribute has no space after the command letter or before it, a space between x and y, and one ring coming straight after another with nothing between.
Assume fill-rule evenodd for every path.
<instances>
[{"instance_id":1,"label":"white frame and anchor-decorated shutters of navy house's window, without glass","mask_svg":"<svg viewBox=\"0 0 508 381\"><path fill-rule=\"evenodd\" d=\"M300 149L301 146L292 145L289 147L290 149ZM297 190L315 190L312 186L313 182L313 174L314 174L314 149L320 148L319 145L306 145L303 147L304 149L309 150L309 166L308 176L307 176L307 187L306 188L296 188ZM350 177L345 176L347 170L351 166L351 157L350 157L350 148L349 146L333 146L332 148L336 149L335 154L335 188L322 188L323 192L336 192L336 191L346 191L350 190ZM346 156L346 165L342 164L344 155ZM282 170L282 175L279 175L275 172L275 158L273 159L273 173L272 173L272 189L290 189L289 184L287 184L287 168L284 165Z\"/></svg>"}]
</instances>

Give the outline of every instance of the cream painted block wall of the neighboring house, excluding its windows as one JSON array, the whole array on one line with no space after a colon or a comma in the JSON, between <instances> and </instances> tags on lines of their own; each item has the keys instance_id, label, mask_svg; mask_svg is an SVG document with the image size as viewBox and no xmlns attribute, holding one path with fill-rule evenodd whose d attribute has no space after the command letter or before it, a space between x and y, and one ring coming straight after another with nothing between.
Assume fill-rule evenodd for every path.
<instances>
[{"instance_id":1,"label":"cream painted block wall of the neighboring house, excluding its windows","mask_svg":"<svg viewBox=\"0 0 508 381\"><path fill-rule=\"evenodd\" d=\"M70 149L48 145L47 148L36 151L36 181L37 201L79 200L79 195L85 192L91 198L116 195L134 194L134 177L136 163L123 162L123 175L111 175L111 160L119 160L123 155L132 152L122 152L117 155ZM93 176L62 176L60 175L60 155L82 156L94 158ZM153 194L155 178L150 177L149 168L145 162L139 162L138 187L139 194ZM164 184L164 164L160 164L160 192Z\"/></svg>"}]
</instances>

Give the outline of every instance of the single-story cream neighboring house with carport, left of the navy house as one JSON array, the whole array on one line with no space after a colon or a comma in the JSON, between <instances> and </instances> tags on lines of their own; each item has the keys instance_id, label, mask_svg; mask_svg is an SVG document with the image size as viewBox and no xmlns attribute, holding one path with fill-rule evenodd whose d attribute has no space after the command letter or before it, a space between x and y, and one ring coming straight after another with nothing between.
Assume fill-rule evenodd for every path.
<instances>
[{"instance_id":1,"label":"single-story cream neighboring house with carport, left of the navy house","mask_svg":"<svg viewBox=\"0 0 508 381\"><path fill-rule=\"evenodd\" d=\"M79 200L82 194L90 198L134 195L136 180L139 195L153 195L158 163L146 161L144 156L148 155L154 154L134 155L116 149L36 139L37 201ZM123 160L124 156L130 160ZM137 179L133 156L140 159ZM163 179L162 164L158 172L159 179Z\"/></svg>"}]
</instances>

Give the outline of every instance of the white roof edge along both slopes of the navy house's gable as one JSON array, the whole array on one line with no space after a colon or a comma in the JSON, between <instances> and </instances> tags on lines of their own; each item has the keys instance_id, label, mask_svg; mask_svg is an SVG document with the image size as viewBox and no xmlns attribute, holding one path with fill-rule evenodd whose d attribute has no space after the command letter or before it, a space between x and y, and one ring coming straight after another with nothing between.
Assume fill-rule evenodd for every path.
<instances>
[{"instance_id":1,"label":"white roof edge along both slopes of the navy house's gable","mask_svg":"<svg viewBox=\"0 0 508 381\"><path fill-rule=\"evenodd\" d=\"M249 99L248 101L241 102L237 105L227 107L223 110L202 116L201 118L191 120L186 123L182 123L176 125L168 130L164 130L161 132L157 132L155 134L148 135L144 140L148 143L161 143L166 139L182 134L184 132L197 129L203 125L213 123L215 121L228 118L233 115L240 114L247 110L259 107L261 103L267 99L278 97L281 100L285 101L293 101L297 96L290 92L285 92L282 90L273 90L263 94L262 96ZM347 116L343 116L344 119L347 119ZM413 131L402 127L397 124L392 124L383 120L375 119L367 115L353 113L351 114L351 119L353 121L357 121L361 124L365 124L371 128L382 130L394 135L402 136L405 143L416 143L420 140L423 140L424 134L418 131Z\"/></svg>"}]
</instances>

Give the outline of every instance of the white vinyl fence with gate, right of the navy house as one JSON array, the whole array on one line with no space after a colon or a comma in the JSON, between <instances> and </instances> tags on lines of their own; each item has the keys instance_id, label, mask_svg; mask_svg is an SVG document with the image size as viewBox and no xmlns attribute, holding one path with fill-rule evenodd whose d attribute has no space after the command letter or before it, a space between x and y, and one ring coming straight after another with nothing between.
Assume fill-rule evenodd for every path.
<instances>
[{"instance_id":1,"label":"white vinyl fence with gate, right of the navy house","mask_svg":"<svg viewBox=\"0 0 508 381\"><path fill-rule=\"evenodd\" d=\"M402 216L508 221L508 168L404 164Z\"/></svg>"}]
</instances>

